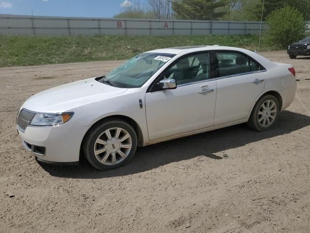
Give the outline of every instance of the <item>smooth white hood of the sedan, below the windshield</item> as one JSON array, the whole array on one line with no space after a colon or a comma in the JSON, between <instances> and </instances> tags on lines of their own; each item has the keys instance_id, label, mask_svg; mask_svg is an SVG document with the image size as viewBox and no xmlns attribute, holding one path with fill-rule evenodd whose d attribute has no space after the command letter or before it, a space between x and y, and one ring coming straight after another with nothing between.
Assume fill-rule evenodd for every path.
<instances>
[{"instance_id":1,"label":"smooth white hood of the sedan, below the windshield","mask_svg":"<svg viewBox=\"0 0 310 233\"><path fill-rule=\"evenodd\" d=\"M62 113L81 105L109 99L126 90L91 78L39 92L26 100L22 107L34 112Z\"/></svg>"}]
</instances>

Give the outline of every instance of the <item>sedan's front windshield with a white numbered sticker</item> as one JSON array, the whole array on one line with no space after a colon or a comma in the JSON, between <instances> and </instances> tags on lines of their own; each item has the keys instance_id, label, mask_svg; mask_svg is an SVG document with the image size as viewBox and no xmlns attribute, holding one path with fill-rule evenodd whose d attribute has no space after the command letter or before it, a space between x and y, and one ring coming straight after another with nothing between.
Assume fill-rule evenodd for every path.
<instances>
[{"instance_id":1,"label":"sedan's front windshield with a white numbered sticker","mask_svg":"<svg viewBox=\"0 0 310 233\"><path fill-rule=\"evenodd\" d=\"M175 54L171 53L141 53L112 70L98 81L116 87L140 87L174 56Z\"/></svg>"}]
</instances>

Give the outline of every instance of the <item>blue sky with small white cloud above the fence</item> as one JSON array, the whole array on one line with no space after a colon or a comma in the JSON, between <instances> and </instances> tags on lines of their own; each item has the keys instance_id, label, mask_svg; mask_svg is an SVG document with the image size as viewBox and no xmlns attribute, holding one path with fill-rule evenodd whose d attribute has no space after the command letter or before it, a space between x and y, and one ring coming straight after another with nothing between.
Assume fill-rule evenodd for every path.
<instances>
[{"instance_id":1,"label":"blue sky with small white cloud above the fence","mask_svg":"<svg viewBox=\"0 0 310 233\"><path fill-rule=\"evenodd\" d=\"M139 0L146 3L147 0ZM0 14L113 17L135 0L0 0Z\"/></svg>"}]
</instances>

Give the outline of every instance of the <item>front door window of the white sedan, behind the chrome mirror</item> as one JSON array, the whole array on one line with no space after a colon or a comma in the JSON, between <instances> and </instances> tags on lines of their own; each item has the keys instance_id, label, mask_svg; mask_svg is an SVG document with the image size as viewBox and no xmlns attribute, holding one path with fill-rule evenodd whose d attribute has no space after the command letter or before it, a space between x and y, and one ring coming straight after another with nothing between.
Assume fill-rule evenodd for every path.
<instances>
[{"instance_id":1,"label":"front door window of the white sedan, behind the chrome mirror","mask_svg":"<svg viewBox=\"0 0 310 233\"><path fill-rule=\"evenodd\" d=\"M209 53L198 53L183 57L164 74L164 78L174 79L177 85L199 82L209 77Z\"/></svg>"}]
</instances>

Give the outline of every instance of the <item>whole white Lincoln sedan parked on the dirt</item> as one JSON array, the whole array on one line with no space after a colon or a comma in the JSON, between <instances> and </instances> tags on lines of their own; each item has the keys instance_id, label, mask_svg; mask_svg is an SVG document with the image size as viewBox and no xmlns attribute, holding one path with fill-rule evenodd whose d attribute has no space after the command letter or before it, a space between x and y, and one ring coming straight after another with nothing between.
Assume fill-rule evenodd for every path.
<instances>
[{"instance_id":1,"label":"whole white Lincoln sedan parked on the dirt","mask_svg":"<svg viewBox=\"0 0 310 233\"><path fill-rule=\"evenodd\" d=\"M293 101L294 67L221 46L152 50L106 76L40 92L17 131L38 161L123 166L137 147L248 122L265 131Z\"/></svg>"}]
</instances>

